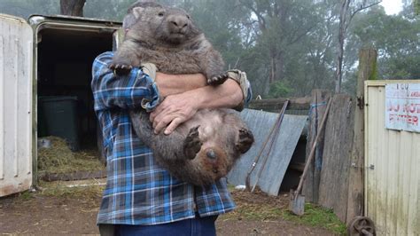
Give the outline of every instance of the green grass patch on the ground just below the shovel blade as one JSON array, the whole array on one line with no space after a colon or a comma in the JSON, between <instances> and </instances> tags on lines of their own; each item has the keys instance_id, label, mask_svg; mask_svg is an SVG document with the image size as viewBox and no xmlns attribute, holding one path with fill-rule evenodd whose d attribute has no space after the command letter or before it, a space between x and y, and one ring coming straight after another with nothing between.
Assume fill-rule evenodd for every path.
<instances>
[{"instance_id":1,"label":"green grass patch on the ground just below the shovel blade","mask_svg":"<svg viewBox=\"0 0 420 236\"><path fill-rule=\"evenodd\" d=\"M305 214L295 216L289 210L283 210L285 220L322 227L339 235L346 235L346 224L338 220L331 209L321 208L310 203L305 204Z\"/></svg>"}]
</instances>

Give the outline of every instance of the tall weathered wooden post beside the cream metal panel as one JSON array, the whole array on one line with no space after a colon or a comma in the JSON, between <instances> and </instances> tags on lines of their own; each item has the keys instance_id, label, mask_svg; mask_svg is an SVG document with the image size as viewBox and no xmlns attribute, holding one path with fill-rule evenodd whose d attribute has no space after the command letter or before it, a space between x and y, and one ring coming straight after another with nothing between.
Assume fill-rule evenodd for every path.
<instances>
[{"instance_id":1,"label":"tall weathered wooden post beside the cream metal panel","mask_svg":"<svg viewBox=\"0 0 420 236\"><path fill-rule=\"evenodd\" d=\"M362 49L359 52L357 77L357 103L354 112L354 138L349 172L346 223L354 216L363 216L364 207L364 81L377 78L377 51Z\"/></svg>"}]
</instances>

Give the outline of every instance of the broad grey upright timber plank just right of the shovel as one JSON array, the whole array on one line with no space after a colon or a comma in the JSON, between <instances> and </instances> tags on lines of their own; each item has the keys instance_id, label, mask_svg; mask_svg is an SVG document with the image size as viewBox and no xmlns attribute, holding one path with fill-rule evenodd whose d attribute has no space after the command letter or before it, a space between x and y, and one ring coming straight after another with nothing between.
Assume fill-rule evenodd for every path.
<instances>
[{"instance_id":1,"label":"broad grey upright timber plank just right of the shovel","mask_svg":"<svg viewBox=\"0 0 420 236\"><path fill-rule=\"evenodd\" d=\"M353 125L354 99L344 94L335 95L325 127L318 204L332 208L343 222L346 222Z\"/></svg>"}]
</instances>

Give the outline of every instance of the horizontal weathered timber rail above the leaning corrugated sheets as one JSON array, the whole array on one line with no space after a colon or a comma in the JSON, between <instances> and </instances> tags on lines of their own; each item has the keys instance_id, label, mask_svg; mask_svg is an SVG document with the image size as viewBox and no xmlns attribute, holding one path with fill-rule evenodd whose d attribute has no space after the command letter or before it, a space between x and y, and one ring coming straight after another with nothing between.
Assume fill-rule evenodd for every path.
<instances>
[{"instance_id":1,"label":"horizontal weathered timber rail above the leaning corrugated sheets","mask_svg":"<svg viewBox=\"0 0 420 236\"><path fill-rule=\"evenodd\" d=\"M272 99L262 99L262 100L252 100L249 103L248 108L254 110L263 110L269 112L279 112L284 102L287 98L272 98ZM309 104L311 102L310 97L304 98L290 98L289 106L287 110L307 110L309 109Z\"/></svg>"}]
</instances>

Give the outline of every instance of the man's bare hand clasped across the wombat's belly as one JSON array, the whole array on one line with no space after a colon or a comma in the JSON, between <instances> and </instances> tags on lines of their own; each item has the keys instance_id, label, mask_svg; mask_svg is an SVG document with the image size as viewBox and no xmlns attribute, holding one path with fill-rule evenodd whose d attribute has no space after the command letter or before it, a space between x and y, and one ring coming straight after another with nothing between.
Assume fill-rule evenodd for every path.
<instances>
[{"instance_id":1,"label":"man's bare hand clasped across the wombat's belly","mask_svg":"<svg viewBox=\"0 0 420 236\"><path fill-rule=\"evenodd\" d=\"M170 95L150 114L155 134L165 129L164 134L171 134L178 125L190 120L197 113L198 100L190 92Z\"/></svg>"}]
</instances>

